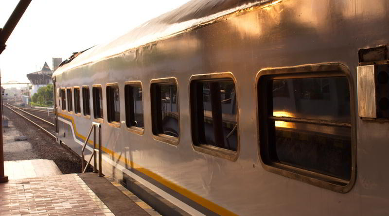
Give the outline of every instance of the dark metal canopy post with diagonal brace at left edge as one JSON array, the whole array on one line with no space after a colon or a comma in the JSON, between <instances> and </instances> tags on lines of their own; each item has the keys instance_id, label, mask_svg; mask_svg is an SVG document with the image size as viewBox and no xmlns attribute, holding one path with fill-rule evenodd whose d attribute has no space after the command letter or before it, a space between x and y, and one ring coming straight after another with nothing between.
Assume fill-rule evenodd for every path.
<instances>
[{"instance_id":1,"label":"dark metal canopy post with diagonal brace at left edge","mask_svg":"<svg viewBox=\"0 0 389 216\"><path fill-rule=\"evenodd\" d=\"M14 12L12 12L11 16L4 24L4 27L0 29L0 54L5 50L6 47L5 42L7 42L9 36L11 35L12 31L14 31L21 16L23 16L24 12L26 11L30 3L31 0L20 0L18 5L16 5ZM1 80L0 80L0 89L1 89ZM1 95L0 103L2 108L3 106L2 95ZM0 112L2 115L3 112L1 109ZM3 122L1 120L0 123L0 183L5 183L5 182L8 182L8 176L4 175Z\"/></svg>"}]
</instances>

